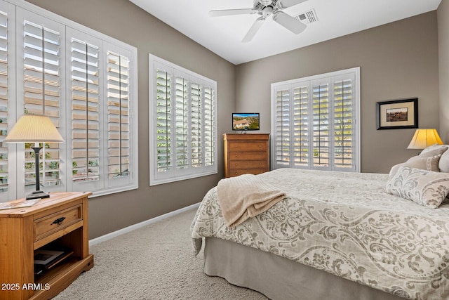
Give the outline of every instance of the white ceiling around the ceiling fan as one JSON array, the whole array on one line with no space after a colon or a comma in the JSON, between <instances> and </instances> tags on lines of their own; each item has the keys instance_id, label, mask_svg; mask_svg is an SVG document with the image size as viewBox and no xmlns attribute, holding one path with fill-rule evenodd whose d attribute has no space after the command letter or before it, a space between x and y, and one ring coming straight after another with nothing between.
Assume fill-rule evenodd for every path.
<instances>
[{"instance_id":1,"label":"white ceiling around the ceiling fan","mask_svg":"<svg viewBox=\"0 0 449 300\"><path fill-rule=\"evenodd\" d=\"M236 65L434 11L441 2L441 0L308 0L283 10L289 15L296 16L314 9L318 21L307 25L301 34L293 34L269 17L252 41L242 43L241 39L260 15L211 17L208 12L253 8L253 0L130 1Z\"/></svg>"}]
</instances>

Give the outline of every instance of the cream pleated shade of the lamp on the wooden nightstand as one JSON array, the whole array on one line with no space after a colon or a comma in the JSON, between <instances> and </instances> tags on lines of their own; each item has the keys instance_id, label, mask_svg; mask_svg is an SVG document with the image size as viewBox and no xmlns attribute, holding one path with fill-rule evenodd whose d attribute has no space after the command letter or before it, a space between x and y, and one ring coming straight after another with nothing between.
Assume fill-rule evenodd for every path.
<instances>
[{"instance_id":1,"label":"cream pleated shade of the lamp on the wooden nightstand","mask_svg":"<svg viewBox=\"0 0 449 300\"><path fill-rule=\"evenodd\" d=\"M40 115L23 115L5 138L6 143L62 143L63 141L51 119Z\"/></svg>"}]
</instances>

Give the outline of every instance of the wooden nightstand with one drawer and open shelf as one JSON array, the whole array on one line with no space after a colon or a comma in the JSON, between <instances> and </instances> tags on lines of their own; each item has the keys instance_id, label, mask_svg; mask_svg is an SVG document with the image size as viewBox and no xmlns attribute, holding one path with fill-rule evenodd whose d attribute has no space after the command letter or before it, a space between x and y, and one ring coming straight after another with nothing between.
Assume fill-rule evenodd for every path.
<instances>
[{"instance_id":1,"label":"wooden nightstand with one drawer and open shelf","mask_svg":"<svg viewBox=\"0 0 449 300\"><path fill-rule=\"evenodd\" d=\"M49 299L93 267L88 244L88 196L51 193L32 207L0 211L0 299ZM34 250L73 254L34 275Z\"/></svg>"}]
</instances>

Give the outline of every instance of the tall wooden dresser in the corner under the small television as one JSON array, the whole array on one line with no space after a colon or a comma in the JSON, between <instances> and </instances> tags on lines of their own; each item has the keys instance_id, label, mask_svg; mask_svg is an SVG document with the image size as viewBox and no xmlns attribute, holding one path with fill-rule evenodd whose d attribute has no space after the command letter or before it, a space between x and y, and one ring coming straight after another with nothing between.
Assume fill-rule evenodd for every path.
<instances>
[{"instance_id":1,"label":"tall wooden dresser in the corner under the small television","mask_svg":"<svg viewBox=\"0 0 449 300\"><path fill-rule=\"evenodd\" d=\"M269 171L269 134L223 134L225 177Z\"/></svg>"}]
</instances>

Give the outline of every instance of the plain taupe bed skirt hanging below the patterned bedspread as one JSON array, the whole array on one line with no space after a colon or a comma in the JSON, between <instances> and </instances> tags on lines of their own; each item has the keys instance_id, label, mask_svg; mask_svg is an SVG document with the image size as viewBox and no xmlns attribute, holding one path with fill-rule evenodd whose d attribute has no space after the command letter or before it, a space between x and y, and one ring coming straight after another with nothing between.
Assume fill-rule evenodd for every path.
<instances>
[{"instance_id":1,"label":"plain taupe bed skirt hanging below the patterned bedspread","mask_svg":"<svg viewBox=\"0 0 449 300\"><path fill-rule=\"evenodd\" d=\"M269 299L403 300L269 252L206 237L204 273L261 292Z\"/></svg>"}]
</instances>

